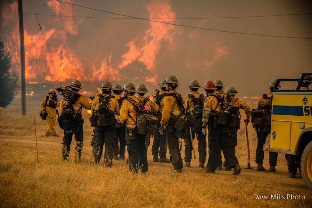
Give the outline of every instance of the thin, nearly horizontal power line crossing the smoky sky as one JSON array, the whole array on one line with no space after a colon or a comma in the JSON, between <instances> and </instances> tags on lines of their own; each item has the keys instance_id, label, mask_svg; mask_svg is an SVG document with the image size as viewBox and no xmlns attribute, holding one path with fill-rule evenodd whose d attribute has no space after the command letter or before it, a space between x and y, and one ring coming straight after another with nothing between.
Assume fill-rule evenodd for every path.
<instances>
[{"instance_id":1,"label":"thin, nearly horizontal power line crossing the smoky sky","mask_svg":"<svg viewBox=\"0 0 312 208\"><path fill-rule=\"evenodd\" d=\"M33 13L23 13L31 14ZM277 15L259 15L259 16L241 16L241 17L186 17L186 18L144 18L147 20L192 20L192 19L234 19L234 18L252 18L252 17L280 17L280 16L292 16L292 15L309 15L310 13L297 13L297 14L277 14ZM70 15L53 15L53 14L37 14L39 16L51 16L51 17L78 17L78 18L92 18L92 19L136 19L130 17L89 17L89 16L70 16Z\"/></svg>"}]
</instances>

